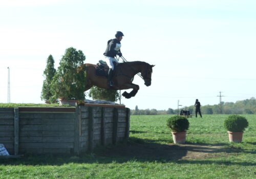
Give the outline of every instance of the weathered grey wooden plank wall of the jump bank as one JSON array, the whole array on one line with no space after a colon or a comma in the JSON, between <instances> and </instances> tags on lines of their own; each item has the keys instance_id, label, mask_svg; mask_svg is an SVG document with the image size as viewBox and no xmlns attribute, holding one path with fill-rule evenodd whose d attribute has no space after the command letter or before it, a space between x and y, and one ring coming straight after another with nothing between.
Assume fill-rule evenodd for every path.
<instances>
[{"instance_id":1,"label":"weathered grey wooden plank wall of the jump bank","mask_svg":"<svg viewBox=\"0 0 256 179\"><path fill-rule=\"evenodd\" d=\"M0 143L11 154L80 153L129 138L128 108L78 106L67 111L0 108Z\"/></svg>"}]
</instances>

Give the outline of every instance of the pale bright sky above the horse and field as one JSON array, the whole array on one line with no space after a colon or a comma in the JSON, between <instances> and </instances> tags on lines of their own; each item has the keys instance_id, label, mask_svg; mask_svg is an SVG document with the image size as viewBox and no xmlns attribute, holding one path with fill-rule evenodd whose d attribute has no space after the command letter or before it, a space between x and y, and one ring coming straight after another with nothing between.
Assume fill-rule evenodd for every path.
<instances>
[{"instance_id":1,"label":"pale bright sky above the horse and field","mask_svg":"<svg viewBox=\"0 0 256 179\"><path fill-rule=\"evenodd\" d=\"M0 102L40 100L51 54L57 69L74 47L97 63L109 39L122 31L128 61L155 64L152 85L124 99L134 109L218 104L256 97L256 1L2 1L0 0ZM122 91L123 92L123 91Z\"/></svg>"}]
</instances>

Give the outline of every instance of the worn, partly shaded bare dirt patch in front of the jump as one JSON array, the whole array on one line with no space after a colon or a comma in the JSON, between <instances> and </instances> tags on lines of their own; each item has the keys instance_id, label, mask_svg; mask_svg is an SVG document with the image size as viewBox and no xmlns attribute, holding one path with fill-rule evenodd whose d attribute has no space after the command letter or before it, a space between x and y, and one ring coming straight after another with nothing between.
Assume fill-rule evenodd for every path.
<instances>
[{"instance_id":1,"label":"worn, partly shaded bare dirt patch in front of the jump","mask_svg":"<svg viewBox=\"0 0 256 179\"><path fill-rule=\"evenodd\" d=\"M128 144L121 146L107 147L100 151L104 156L122 156L137 160L195 160L217 158L229 154L236 154L239 151L225 148L223 145L207 144Z\"/></svg>"}]
</instances>

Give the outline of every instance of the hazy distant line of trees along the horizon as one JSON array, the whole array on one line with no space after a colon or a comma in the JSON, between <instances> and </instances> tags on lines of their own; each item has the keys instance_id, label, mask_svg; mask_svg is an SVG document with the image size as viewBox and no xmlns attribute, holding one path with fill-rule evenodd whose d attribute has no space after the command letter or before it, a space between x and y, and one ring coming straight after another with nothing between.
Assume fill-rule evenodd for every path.
<instances>
[{"instance_id":1,"label":"hazy distant line of trees along the horizon","mask_svg":"<svg viewBox=\"0 0 256 179\"><path fill-rule=\"evenodd\" d=\"M182 107L190 111L190 114L195 114L195 106ZM179 111L181 110L179 109ZM256 99L250 98L242 101L222 102L222 104L215 105L202 105L202 114L215 115L215 114L256 114ZM168 108L167 110L157 109L139 109L138 106L135 109L131 109L131 115L174 115L178 114L178 109Z\"/></svg>"}]
</instances>

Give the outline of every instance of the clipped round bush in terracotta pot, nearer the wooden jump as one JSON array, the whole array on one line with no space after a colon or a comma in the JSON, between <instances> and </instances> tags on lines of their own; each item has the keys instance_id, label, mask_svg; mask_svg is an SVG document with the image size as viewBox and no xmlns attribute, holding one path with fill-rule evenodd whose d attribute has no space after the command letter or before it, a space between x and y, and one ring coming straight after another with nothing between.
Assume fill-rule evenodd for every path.
<instances>
[{"instance_id":1,"label":"clipped round bush in terracotta pot, nearer the wooden jump","mask_svg":"<svg viewBox=\"0 0 256 179\"><path fill-rule=\"evenodd\" d=\"M184 144L186 142L186 130L189 122L184 116L173 116L167 120L166 124L171 130L175 144Z\"/></svg>"}]
</instances>

